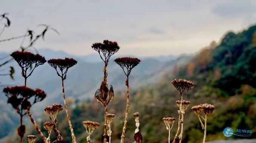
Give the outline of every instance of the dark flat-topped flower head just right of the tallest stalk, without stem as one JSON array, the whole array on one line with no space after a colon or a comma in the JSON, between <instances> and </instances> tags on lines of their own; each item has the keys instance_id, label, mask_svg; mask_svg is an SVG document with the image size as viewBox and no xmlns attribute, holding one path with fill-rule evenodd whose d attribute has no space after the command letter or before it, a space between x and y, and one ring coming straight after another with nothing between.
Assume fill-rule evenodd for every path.
<instances>
[{"instance_id":1,"label":"dark flat-topped flower head just right of the tallest stalk, without stem","mask_svg":"<svg viewBox=\"0 0 256 143\"><path fill-rule=\"evenodd\" d=\"M122 57L116 58L114 62L123 69L126 76L129 76L132 69L137 66L141 62L141 60L138 58Z\"/></svg>"}]
</instances>

